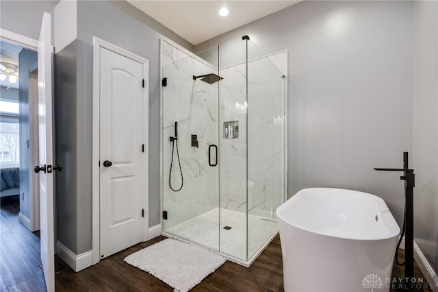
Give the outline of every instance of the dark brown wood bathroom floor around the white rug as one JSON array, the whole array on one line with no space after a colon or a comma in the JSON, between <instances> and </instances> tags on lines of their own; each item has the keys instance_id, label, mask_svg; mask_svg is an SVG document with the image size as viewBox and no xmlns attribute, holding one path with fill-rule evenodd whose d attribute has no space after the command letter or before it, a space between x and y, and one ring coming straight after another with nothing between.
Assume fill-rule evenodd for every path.
<instances>
[{"instance_id":1,"label":"dark brown wood bathroom floor around the white rug","mask_svg":"<svg viewBox=\"0 0 438 292\"><path fill-rule=\"evenodd\" d=\"M55 277L57 291L172 291L173 289L161 280L123 262L132 252L163 239L166 237L159 236L153 241L129 247L79 273L74 273L71 269L60 271ZM402 276L400 271L404 270L394 266L394 276ZM417 266L415 272L416 275L422 276ZM246 268L227 261L192 291L284 292L279 236L276 236L251 267Z\"/></svg>"}]
</instances>

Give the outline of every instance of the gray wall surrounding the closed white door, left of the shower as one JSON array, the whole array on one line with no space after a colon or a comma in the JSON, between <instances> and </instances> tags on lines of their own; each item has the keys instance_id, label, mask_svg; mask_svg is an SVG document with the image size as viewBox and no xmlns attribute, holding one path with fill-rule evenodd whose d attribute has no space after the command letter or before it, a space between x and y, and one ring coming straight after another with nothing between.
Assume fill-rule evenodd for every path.
<instances>
[{"instance_id":1,"label":"gray wall surrounding the closed white door, left of the shower","mask_svg":"<svg viewBox=\"0 0 438 292\"><path fill-rule=\"evenodd\" d=\"M57 163L69 172L57 175L57 237L81 254L92 248L92 37L149 60L149 226L155 226L160 223L159 38L164 36L145 24L149 16L144 21L125 2L78 1L77 17L77 40L55 58Z\"/></svg>"}]
</instances>

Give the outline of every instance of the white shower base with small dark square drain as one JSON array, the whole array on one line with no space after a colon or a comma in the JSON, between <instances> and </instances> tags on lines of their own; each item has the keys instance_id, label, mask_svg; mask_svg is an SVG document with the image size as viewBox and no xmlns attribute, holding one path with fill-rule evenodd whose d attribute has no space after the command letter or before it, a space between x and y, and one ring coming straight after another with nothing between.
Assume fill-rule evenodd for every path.
<instances>
[{"instance_id":1,"label":"white shower base with small dark square drain","mask_svg":"<svg viewBox=\"0 0 438 292\"><path fill-rule=\"evenodd\" d=\"M231 227L231 229L227 230L224 227ZM272 219L248 215L248 236L246 230L245 213L214 208L164 230L163 234L203 245L234 263L249 267L278 234L279 228L278 223ZM247 238L248 258L246 255Z\"/></svg>"}]
</instances>

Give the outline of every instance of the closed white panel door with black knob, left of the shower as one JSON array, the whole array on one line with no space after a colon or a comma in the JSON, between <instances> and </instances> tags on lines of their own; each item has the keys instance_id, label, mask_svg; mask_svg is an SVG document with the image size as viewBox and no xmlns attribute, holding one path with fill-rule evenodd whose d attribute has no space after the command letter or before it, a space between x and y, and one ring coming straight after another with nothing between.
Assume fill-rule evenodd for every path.
<instances>
[{"instance_id":1,"label":"closed white panel door with black knob, left of the shower","mask_svg":"<svg viewBox=\"0 0 438 292\"><path fill-rule=\"evenodd\" d=\"M140 243L142 224L142 64L101 48L100 251L105 258Z\"/></svg>"}]
</instances>

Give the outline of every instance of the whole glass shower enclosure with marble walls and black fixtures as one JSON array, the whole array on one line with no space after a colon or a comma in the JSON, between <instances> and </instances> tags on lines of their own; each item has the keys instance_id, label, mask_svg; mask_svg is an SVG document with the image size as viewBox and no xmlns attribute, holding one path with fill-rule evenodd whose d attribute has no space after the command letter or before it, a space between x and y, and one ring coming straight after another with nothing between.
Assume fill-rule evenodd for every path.
<instances>
[{"instance_id":1,"label":"whole glass shower enclosure with marble walls and black fixtures","mask_svg":"<svg viewBox=\"0 0 438 292\"><path fill-rule=\"evenodd\" d=\"M285 75L247 36L161 47L163 233L248 267L285 201Z\"/></svg>"}]
</instances>

